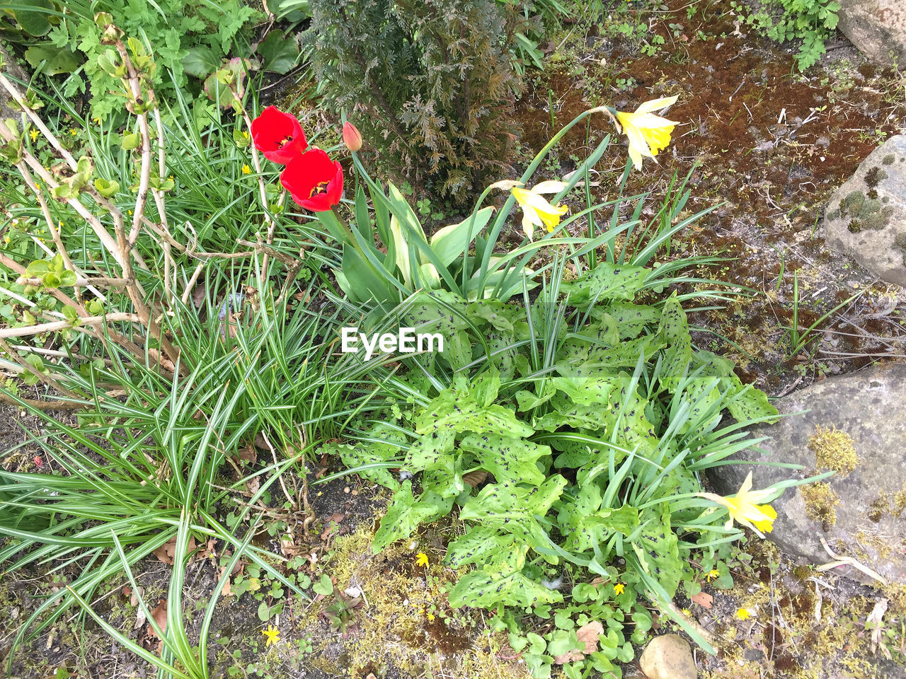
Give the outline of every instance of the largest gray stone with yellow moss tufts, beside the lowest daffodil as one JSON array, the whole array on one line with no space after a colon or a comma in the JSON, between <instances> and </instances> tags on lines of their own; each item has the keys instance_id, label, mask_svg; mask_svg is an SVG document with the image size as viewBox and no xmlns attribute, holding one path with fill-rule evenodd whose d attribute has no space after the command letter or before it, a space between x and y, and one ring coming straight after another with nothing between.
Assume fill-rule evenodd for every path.
<instances>
[{"instance_id":1,"label":"largest gray stone with yellow moss tufts, beside the lowest daffodil","mask_svg":"<svg viewBox=\"0 0 906 679\"><path fill-rule=\"evenodd\" d=\"M757 444L765 452L749 449L729 458L801 464L804 469L730 464L708 470L711 483L718 493L728 495L736 493L749 471L753 472L752 487L761 489L787 478L813 476L827 471L828 466L845 466L846 455L829 454L833 449L826 445L826 435L816 438L819 431L826 434L835 427L837 433L832 431L831 439L839 441L839 433L852 439L851 448L859 458L852 471L835 473L822 482L824 486L806 484L787 489L772 502L777 518L767 537L787 553L817 565L834 560L824 550L824 538L836 554L856 559L892 583L906 584L904 404L906 363L873 366L824 379L775 403L782 414L807 413L751 429L755 437L767 437ZM820 458L816 450L823 451ZM830 498L830 502L819 502L822 497ZM878 584L852 566L834 572Z\"/></svg>"}]
</instances>

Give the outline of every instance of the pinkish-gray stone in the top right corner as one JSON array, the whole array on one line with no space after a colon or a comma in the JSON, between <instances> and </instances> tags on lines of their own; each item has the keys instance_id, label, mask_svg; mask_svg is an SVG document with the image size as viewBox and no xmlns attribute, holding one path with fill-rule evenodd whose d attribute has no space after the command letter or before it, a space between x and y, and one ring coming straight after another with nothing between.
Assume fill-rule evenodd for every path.
<instances>
[{"instance_id":1,"label":"pinkish-gray stone in the top right corner","mask_svg":"<svg viewBox=\"0 0 906 679\"><path fill-rule=\"evenodd\" d=\"M903 0L838 0L837 28L866 56L906 68L906 3Z\"/></svg>"}]
</instances>

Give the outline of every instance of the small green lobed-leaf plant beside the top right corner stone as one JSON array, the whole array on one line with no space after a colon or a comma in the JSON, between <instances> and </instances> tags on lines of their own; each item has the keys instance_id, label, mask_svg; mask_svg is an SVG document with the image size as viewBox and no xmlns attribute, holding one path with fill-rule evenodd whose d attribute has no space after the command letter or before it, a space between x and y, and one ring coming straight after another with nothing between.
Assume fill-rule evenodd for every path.
<instances>
[{"instance_id":1,"label":"small green lobed-leaf plant beside the top right corner stone","mask_svg":"<svg viewBox=\"0 0 906 679\"><path fill-rule=\"evenodd\" d=\"M824 41L834 33L840 4L835 0L765 0L757 11L731 3L746 24L777 43L802 41L796 65L805 71L824 54Z\"/></svg>"}]
</instances>

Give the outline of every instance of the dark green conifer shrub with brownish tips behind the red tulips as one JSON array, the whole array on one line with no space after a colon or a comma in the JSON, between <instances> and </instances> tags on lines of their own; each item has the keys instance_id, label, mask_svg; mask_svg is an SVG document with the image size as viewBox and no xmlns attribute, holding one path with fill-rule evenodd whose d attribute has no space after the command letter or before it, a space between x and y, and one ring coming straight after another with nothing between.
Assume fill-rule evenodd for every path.
<instances>
[{"instance_id":1,"label":"dark green conifer shrub with brownish tips behind the red tulips","mask_svg":"<svg viewBox=\"0 0 906 679\"><path fill-rule=\"evenodd\" d=\"M521 90L512 15L495 0L326 0L304 42L325 105L345 111L398 176L462 200L502 174Z\"/></svg>"}]
</instances>

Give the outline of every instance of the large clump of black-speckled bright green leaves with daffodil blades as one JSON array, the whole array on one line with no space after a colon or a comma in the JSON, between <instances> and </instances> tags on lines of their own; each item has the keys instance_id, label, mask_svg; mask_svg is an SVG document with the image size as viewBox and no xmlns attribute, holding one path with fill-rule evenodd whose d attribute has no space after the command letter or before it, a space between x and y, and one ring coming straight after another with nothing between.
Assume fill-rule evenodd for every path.
<instances>
[{"instance_id":1,"label":"large clump of black-speckled bright green leaves with daffodil blades","mask_svg":"<svg viewBox=\"0 0 906 679\"><path fill-rule=\"evenodd\" d=\"M391 434L379 425L354 444L371 464L385 456L420 473L420 493L410 481L390 484L373 550L458 505L466 532L448 545L446 562L463 570L450 604L496 610L535 676L581 647L574 627L589 620L604 626L602 648L573 667L613 671L632 655L624 627L635 624L634 643L651 627L643 600L673 617L670 600L680 588L699 591L708 572L689 567L693 555L725 569L740 533L696 496L698 473L757 443L742 426L777 415L730 361L694 349L675 295L637 303L651 269L602 263L559 283L562 264L526 306L417 295L404 322L443 329L455 347L421 368L439 391L403 415L408 443L400 427ZM721 426L725 409L736 424ZM400 447L408 447L401 464ZM487 483L473 488L467 477L478 472ZM547 581L564 571L577 583L572 598ZM584 584L595 577L606 584ZM556 630L522 636L519 609L555 613Z\"/></svg>"}]
</instances>

